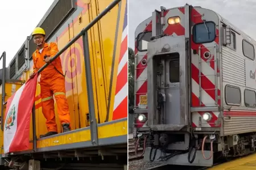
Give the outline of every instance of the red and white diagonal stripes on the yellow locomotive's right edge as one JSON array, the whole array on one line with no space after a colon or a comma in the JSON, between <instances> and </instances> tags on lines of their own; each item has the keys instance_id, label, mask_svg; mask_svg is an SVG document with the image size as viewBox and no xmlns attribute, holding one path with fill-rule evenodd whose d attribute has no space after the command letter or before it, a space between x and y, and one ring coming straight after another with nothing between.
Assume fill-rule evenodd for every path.
<instances>
[{"instance_id":1,"label":"red and white diagonal stripes on the yellow locomotive's right edge","mask_svg":"<svg viewBox=\"0 0 256 170\"><path fill-rule=\"evenodd\" d=\"M125 2L125 1L123 1ZM121 49L118 61L118 71L117 71L117 86L115 87L115 100L114 100L114 112L113 112L113 120L117 120L119 118L127 117L127 105L128 105L128 48L127 48L127 2L125 7L125 15L123 21L123 32L122 32L122 40L121 40Z\"/></svg>"}]
</instances>

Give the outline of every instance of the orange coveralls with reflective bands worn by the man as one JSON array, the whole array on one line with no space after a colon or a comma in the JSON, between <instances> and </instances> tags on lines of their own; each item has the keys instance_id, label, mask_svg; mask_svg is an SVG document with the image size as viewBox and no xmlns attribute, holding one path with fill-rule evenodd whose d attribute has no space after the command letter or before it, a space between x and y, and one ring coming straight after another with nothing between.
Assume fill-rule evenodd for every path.
<instances>
[{"instance_id":1,"label":"orange coveralls with reflective bands worn by the man","mask_svg":"<svg viewBox=\"0 0 256 170\"><path fill-rule=\"evenodd\" d=\"M40 69L46 62L44 56L53 57L59 52L57 45L54 42L44 44L42 53L38 49L33 53L32 58L34 61L34 72ZM57 69L57 71L55 70ZM59 72L59 73L58 73ZM55 95L57 103L57 113L61 124L70 124L70 115L68 110L68 101L65 96L65 79L63 74L60 58L52 61L46 69L42 71L40 78L41 96L42 96L42 111L46 117L46 126L48 131L57 131L57 124L54 112Z\"/></svg>"}]
</instances>

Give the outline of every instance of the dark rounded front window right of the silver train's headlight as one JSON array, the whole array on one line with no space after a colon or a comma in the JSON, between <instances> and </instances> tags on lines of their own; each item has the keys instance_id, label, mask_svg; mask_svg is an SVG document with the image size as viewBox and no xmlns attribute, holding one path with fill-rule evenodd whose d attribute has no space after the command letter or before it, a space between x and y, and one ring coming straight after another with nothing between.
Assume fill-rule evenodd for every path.
<instances>
[{"instance_id":1,"label":"dark rounded front window right of the silver train's headlight","mask_svg":"<svg viewBox=\"0 0 256 170\"><path fill-rule=\"evenodd\" d=\"M214 22L204 22L194 25L193 41L196 44L212 42L214 41L215 37L216 34Z\"/></svg>"}]
</instances>

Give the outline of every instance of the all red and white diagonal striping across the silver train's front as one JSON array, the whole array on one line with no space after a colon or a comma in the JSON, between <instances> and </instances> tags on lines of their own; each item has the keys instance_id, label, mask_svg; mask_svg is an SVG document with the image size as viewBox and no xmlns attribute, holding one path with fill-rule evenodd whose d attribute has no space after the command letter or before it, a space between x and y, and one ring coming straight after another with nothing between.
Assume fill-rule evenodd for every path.
<instances>
[{"instance_id":1,"label":"all red and white diagonal striping across the silver train's front","mask_svg":"<svg viewBox=\"0 0 256 170\"><path fill-rule=\"evenodd\" d=\"M167 35L172 36L184 36L185 34L185 10L184 7L180 8L172 8L171 10L167 10L164 12L164 16L167 22L167 19L171 16L179 16L180 17L180 23L174 24L174 25L164 25L163 32ZM201 15L201 14L204 14ZM202 23L203 19L205 18L207 20L212 20L215 23L218 23L218 18L216 14L214 14L213 11L205 10L204 8L193 8L192 9L192 23ZM152 28L152 27L151 27ZM146 25L145 28L146 29ZM150 29L151 31L151 29ZM139 31L137 31L139 32ZM143 32L143 30L141 30ZM191 63L191 76L192 76L192 107L204 107L204 106L213 106L215 105L215 91L214 89L218 89L218 96L220 96L220 79L217 77L217 84L215 84L214 80L214 57L210 59L210 62L207 62L207 60L203 57L204 52L210 51L211 54L212 49L210 46L214 46L215 44L218 45L219 37L218 37L218 29L216 31L216 39L213 42L206 43L206 44L195 44L192 41L191 44L191 50L197 50L199 51L199 46L203 49L201 49L201 56L199 58L198 54L193 54L192 52L192 63ZM192 35L191 35L192 39ZM147 93L147 82L139 83L141 80L147 79L146 74L146 68L143 69L144 66L141 65L141 60L143 58L147 58L146 52L137 52L135 49L135 52L138 53L138 64L137 64L137 95L136 95L136 104L139 105L139 95L140 94L146 94ZM200 60L199 60L200 59ZM201 105L199 103L199 61L203 62L201 63ZM144 73L145 71L145 73ZM219 73L219 69L217 69L217 72ZM216 86L217 85L217 86ZM209 90L210 89L210 90ZM220 105L220 99L218 99L218 105ZM210 112L212 113L212 120L209 122L206 122L202 120L202 124L199 125L199 117L201 117L204 112L193 112L192 113L192 126L193 127L216 127L220 125L215 125L214 122L218 118L219 112Z\"/></svg>"}]
</instances>

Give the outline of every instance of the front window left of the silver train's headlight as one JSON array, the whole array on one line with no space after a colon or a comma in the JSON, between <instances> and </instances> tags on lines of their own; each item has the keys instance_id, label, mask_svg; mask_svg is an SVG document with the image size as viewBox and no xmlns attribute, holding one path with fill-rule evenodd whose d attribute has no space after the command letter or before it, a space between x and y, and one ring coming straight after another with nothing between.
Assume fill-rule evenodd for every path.
<instances>
[{"instance_id":1,"label":"front window left of the silver train's headlight","mask_svg":"<svg viewBox=\"0 0 256 170\"><path fill-rule=\"evenodd\" d=\"M137 36L137 49L139 52L147 51L147 43L150 41L150 37L152 36L152 32L141 32Z\"/></svg>"}]
</instances>

